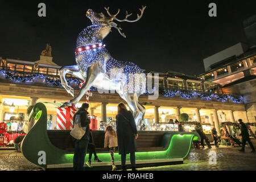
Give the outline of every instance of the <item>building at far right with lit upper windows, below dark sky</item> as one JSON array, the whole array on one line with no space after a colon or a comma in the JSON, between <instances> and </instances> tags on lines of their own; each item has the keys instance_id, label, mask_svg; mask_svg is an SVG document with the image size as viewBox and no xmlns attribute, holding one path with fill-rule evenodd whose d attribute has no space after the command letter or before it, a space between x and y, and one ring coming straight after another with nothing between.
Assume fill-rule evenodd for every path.
<instances>
[{"instance_id":1,"label":"building at far right with lit upper windows, below dark sky","mask_svg":"<svg viewBox=\"0 0 256 182\"><path fill-rule=\"evenodd\" d=\"M244 121L255 123L256 16L244 20L243 27L247 42L237 43L205 58L205 73L197 78L219 84L223 92L241 94L246 108ZM233 122L234 120L232 118L230 121Z\"/></svg>"}]
</instances>

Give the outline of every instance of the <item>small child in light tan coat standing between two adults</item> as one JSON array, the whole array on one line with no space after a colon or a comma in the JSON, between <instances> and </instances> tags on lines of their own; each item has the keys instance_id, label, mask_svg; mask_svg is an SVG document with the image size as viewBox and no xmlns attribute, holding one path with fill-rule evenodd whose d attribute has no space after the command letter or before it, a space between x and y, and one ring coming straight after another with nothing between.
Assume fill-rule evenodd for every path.
<instances>
[{"instance_id":1,"label":"small child in light tan coat standing between two adults","mask_svg":"<svg viewBox=\"0 0 256 182\"><path fill-rule=\"evenodd\" d=\"M115 169L117 169L114 161L115 147L117 147L117 133L115 133L114 127L109 125L106 127L104 148L109 148L112 161L112 171L115 171Z\"/></svg>"}]
</instances>

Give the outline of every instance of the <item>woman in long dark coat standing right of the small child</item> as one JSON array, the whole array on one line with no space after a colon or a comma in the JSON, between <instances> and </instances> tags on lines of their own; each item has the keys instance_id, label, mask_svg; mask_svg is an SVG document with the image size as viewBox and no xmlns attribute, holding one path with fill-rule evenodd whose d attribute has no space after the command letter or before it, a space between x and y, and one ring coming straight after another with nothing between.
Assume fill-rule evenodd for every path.
<instances>
[{"instance_id":1,"label":"woman in long dark coat standing right of the small child","mask_svg":"<svg viewBox=\"0 0 256 182\"><path fill-rule=\"evenodd\" d=\"M131 111L126 109L122 102L117 106L118 114L115 116L117 121L117 143L119 155L121 155L122 169L126 170L126 154L130 153L132 170L135 168L135 151L137 145L135 139L138 138L138 131Z\"/></svg>"}]
</instances>

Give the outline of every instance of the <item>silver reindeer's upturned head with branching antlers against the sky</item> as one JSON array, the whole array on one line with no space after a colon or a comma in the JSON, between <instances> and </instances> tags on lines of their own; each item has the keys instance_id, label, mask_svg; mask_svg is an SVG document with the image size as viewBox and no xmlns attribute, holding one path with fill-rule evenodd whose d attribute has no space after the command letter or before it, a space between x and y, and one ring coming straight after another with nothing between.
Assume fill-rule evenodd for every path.
<instances>
[{"instance_id":1,"label":"silver reindeer's upturned head with branching antlers against the sky","mask_svg":"<svg viewBox=\"0 0 256 182\"><path fill-rule=\"evenodd\" d=\"M105 7L105 10L107 11L109 17L106 17L103 13L95 13L91 9L89 9L86 12L86 16L92 21L92 24L102 24L102 25L105 25L105 26L117 28L119 34L121 34L124 38L126 38L125 34L123 34L121 32L122 28L117 27L117 23L115 23L113 21L117 20L118 22L137 22L139 19L141 19L142 15L143 15L143 11L144 11L145 8L146 8L146 6L142 6L142 9L139 9L141 11L141 15L137 14L137 19L135 19L135 20L127 19L128 16L131 15L131 14L128 14L127 11L126 11L125 19L118 19L116 16L119 13L119 9L118 9L116 14L112 15L112 14L109 13L109 7L108 8Z\"/></svg>"}]
</instances>

